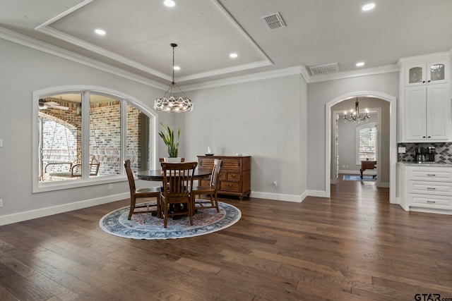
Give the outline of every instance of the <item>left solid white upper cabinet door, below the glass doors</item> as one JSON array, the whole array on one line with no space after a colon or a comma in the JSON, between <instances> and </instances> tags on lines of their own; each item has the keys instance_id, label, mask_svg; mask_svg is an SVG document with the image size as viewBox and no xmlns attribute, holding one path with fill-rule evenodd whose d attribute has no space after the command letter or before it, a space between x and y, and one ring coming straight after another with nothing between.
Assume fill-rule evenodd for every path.
<instances>
[{"instance_id":1,"label":"left solid white upper cabinet door, below the glass doors","mask_svg":"<svg viewBox=\"0 0 452 301\"><path fill-rule=\"evenodd\" d=\"M425 86L405 89L405 140L426 139Z\"/></svg>"}]
</instances>

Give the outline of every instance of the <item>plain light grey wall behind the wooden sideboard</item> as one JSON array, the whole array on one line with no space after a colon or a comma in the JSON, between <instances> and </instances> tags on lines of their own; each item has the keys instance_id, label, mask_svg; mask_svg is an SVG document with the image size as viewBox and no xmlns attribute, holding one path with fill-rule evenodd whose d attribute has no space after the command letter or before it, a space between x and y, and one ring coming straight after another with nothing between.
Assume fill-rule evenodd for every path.
<instances>
[{"instance_id":1,"label":"plain light grey wall behind the wooden sideboard","mask_svg":"<svg viewBox=\"0 0 452 301\"><path fill-rule=\"evenodd\" d=\"M301 201L306 192L307 85L301 75L190 92L194 110L176 117L181 152L196 160L250 154L251 195ZM278 188L273 188L277 181Z\"/></svg>"}]
</instances>

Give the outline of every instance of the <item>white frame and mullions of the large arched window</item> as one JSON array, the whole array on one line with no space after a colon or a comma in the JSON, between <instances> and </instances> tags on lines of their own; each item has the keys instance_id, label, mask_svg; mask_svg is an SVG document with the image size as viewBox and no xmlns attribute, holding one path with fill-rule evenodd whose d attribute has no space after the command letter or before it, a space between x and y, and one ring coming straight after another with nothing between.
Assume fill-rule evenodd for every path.
<instances>
[{"instance_id":1,"label":"white frame and mullions of the large arched window","mask_svg":"<svg viewBox=\"0 0 452 301\"><path fill-rule=\"evenodd\" d=\"M112 97L121 102L121 159L126 158L126 135L127 135L127 104L130 104L136 109L139 109L150 118L150 137L149 137L149 151L151 168L155 169L157 166L157 130L158 130L158 115L150 109L146 104L140 102L138 99L131 97L128 94L118 92L106 87L90 86L90 85L76 85L76 86L61 86L49 87L47 89L36 90L32 92L32 193L46 192L53 190L64 190L69 188L80 188L91 185L100 185L104 183L115 183L127 180L124 168L121 168L121 174L114 176L103 176L100 178L89 177L89 118L82 118L82 177L70 181L55 181L49 183L40 183L39 181L39 99L49 97L55 94L82 94L82 116L89 116L90 113L90 94L100 94L107 97Z\"/></svg>"}]
</instances>

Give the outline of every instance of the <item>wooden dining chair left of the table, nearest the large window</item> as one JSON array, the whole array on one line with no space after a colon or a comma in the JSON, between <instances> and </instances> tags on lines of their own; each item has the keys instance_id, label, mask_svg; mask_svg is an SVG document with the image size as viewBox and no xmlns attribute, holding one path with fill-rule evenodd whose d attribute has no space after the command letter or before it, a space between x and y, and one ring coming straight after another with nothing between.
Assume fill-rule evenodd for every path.
<instances>
[{"instance_id":1,"label":"wooden dining chair left of the table, nearest the large window","mask_svg":"<svg viewBox=\"0 0 452 301\"><path fill-rule=\"evenodd\" d=\"M130 188L130 211L129 218L132 218L132 214L141 214L148 212L155 212L157 217L160 217L160 202L158 201L160 197L160 187L153 188L141 188L136 189L135 179L133 178L132 168L130 167L130 160L127 159L124 161L124 167L126 168L127 178L129 179L129 188ZM156 204L136 204L136 199L145 198L145 197L155 197L157 199ZM143 208L145 208L143 210ZM136 210L141 209L141 210Z\"/></svg>"}]
</instances>

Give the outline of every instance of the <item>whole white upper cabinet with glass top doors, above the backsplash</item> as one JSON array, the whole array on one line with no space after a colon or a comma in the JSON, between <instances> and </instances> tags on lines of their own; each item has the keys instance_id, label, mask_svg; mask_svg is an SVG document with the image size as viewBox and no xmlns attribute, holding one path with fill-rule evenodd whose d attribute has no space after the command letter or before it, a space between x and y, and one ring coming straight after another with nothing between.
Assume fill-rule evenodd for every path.
<instances>
[{"instance_id":1,"label":"whole white upper cabinet with glass top doors, above the backsplash","mask_svg":"<svg viewBox=\"0 0 452 301\"><path fill-rule=\"evenodd\" d=\"M398 142L452 142L451 59L400 59Z\"/></svg>"}]
</instances>

